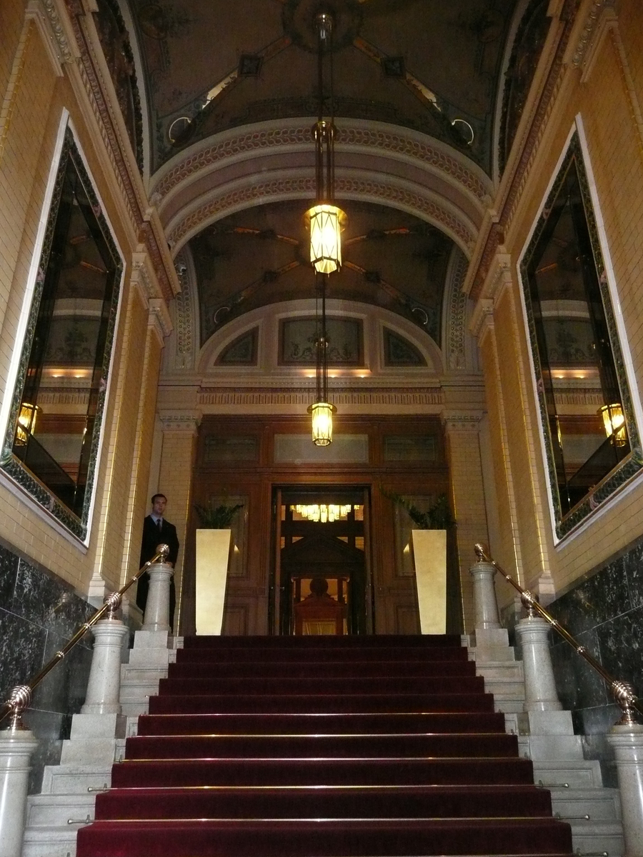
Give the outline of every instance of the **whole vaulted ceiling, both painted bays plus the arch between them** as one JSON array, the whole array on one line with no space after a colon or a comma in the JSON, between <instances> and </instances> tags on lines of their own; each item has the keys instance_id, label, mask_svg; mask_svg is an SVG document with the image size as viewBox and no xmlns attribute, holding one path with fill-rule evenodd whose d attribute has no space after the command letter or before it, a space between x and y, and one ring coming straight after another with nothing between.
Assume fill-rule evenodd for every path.
<instances>
[{"instance_id":1,"label":"whole vaulted ceiling, both painted bays plus the arch between them","mask_svg":"<svg viewBox=\"0 0 643 857\"><path fill-rule=\"evenodd\" d=\"M314 293L303 213L320 9L335 21L336 197L348 214L330 294L439 339L448 260L455 244L471 252L492 194L502 66L525 0L127 2L152 201L172 252L192 255L201 342Z\"/></svg>"}]
</instances>

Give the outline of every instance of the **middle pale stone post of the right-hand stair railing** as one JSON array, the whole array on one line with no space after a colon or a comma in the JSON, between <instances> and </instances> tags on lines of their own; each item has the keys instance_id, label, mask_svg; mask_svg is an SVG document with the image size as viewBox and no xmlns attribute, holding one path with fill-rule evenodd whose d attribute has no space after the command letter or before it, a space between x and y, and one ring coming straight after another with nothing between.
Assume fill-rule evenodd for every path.
<instances>
[{"instance_id":1,"label":"middle pale stone post of the right-hand stair railing","mask_svg":"<svg viewBox=\"0 0 643 857\"><path fill-rule=\"evenodd\" d=\"M526 711L561 711L551 664L550 626L539 616L521 619L515 628L522 645Z\"/></svg>"}]
</instances>

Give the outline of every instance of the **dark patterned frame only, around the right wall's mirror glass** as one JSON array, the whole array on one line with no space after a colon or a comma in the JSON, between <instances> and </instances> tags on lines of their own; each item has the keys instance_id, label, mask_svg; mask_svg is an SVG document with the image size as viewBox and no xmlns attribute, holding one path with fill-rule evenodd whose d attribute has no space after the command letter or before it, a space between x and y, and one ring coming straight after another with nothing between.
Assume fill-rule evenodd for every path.
<instances>
[{"instance_id":1,"label":"dark patterned frame only, around the right wall's mirror glass","mask_svg":"<svg viewBox=\"0 0 643 857\"><path fill-rule=\"evenodd\" d=\"M585 210L590 243L592 245L592 255L596 266L598 285L603 302L605 322L610 338L610 346L616 368L616 379L621 393L623 415L625 417L625 423L628 430L631 451L625 458L623 458L620 464L610 470L610 472L607 473L594 488L588 491L582 500L570 509L569 512L563 514L560 494L558 493L556 463L550 433L549 412L544 390L542 363L540 353L538 351L538 337L530 297L528 268L532 261L532 256L538 249L538 243L547 225L550 211L554 206L557 195L562 189L562 183L564 182L570 167L573 169L575 167L576 175L580 184L580 194ZM570 141L568 142L568 148L562 156L562 161L556 171L556 177L550 187L546 200L540 209L538 220L536 221L532 231L529 243L527 243L526 249L520 257L518 271L523 309L526 315L530 353L532 357L532 378L535 383L536 396L538 400L541 440L544 445L550 503L554 518L554 530L557 539L561 540L567 536L568 533L575 530L580 524L582 524L586 518L592 514L592 512L598 509L599 506L602 506L606 500L609 500L614 496L614 494L616 494L616 492L620 490L626 482L629 482L634 478L634 476L640 473L640 470L643 469L643 452L641 451L640 446L639 428L634 414L634 404L628 383L621 339L616 326L616 316L612 307L608 272L604 262L604 251L599 237L598 224L594 213L590 185L587 180L585 158L580 143L580 134L578 129L574 129L574 133L571 135Z\"/></svg>"}]
</instances>

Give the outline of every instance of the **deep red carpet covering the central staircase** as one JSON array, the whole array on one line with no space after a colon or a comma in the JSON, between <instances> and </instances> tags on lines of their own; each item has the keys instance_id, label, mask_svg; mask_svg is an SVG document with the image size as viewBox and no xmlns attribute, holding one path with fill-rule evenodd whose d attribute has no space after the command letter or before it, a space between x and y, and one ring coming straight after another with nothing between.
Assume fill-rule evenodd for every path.
<instances>
[{"instance_id":1,"label":"deep red carpet covering the central staircase","mask_svg":"<svg viewBox=\"0 0 643 857\"><path fill-rule=\"evenodd\" d=\"M78 857L566 854L455 637L186 638Z\"/></svg>"}]
</instances>

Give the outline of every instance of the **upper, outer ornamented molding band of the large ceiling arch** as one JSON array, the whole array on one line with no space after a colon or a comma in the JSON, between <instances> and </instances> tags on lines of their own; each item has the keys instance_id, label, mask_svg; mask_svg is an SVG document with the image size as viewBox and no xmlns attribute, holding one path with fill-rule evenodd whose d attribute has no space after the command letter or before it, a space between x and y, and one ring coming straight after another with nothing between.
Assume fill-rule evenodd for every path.
<instances>
[{"instance_id":1,"label":"upper, outer ornamented molding band of the large ceiling arch","mask_svg":"<svg viewBox=\"0 0 643 857\"><path fill-rule=\"evenodd\" d=\"M170 161L159 171L152 186L151 199L163 211L168 198L185 184L198 181L204 173L219 169L226 162L255 159L279 150L311 151L310 123L305 118L274 128L273 123L258 123L210 138ZM343 119L335 141L335 153L341 166L342 152L378 153L391 159L403 159L447 177L469 195L478 208L489 201L492 187L484 171L438 141L383 123L360 123Z\"/></svg>"}]
</instances>

